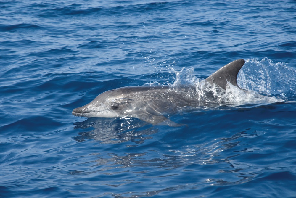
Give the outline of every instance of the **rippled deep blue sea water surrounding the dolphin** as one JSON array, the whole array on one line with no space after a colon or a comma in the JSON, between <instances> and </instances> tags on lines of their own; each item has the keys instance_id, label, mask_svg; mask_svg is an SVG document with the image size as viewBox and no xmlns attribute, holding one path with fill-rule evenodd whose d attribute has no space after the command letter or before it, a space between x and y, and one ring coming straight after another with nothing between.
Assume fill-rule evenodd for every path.
<instances>
[{"instance_id":1,"label":"rippled deep blue sea water surrounding the dolphin","mask_svg":"<svg viewBox=\"0 0 296 198\"><path fill-rule=\"evenodd\" d=\"M0 197L296 197L295 13L292 0L0 1ZM235 59L239 86L270 100L170 115L181 127L71 114Z\"/></svg>"}]
</instances>

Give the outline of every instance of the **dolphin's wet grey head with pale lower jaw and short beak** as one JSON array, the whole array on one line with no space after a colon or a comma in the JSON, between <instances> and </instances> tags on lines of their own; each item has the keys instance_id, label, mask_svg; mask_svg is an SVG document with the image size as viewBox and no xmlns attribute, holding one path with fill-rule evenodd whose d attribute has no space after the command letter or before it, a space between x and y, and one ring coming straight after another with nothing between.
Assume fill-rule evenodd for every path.
<instances>
[{"instance_id":1,"label":"dolphin's wet grey head with pale lower jaw and short beak","mask_svg":"<svg viewBox=\"0 0 296 198\"><path fill-rule=\"evenodd\" d=\"M105 91L89 104L73 109L72 114L82 117L119 117L131 102L128 93L120 89Z\"/></svg>"}]
</instances>

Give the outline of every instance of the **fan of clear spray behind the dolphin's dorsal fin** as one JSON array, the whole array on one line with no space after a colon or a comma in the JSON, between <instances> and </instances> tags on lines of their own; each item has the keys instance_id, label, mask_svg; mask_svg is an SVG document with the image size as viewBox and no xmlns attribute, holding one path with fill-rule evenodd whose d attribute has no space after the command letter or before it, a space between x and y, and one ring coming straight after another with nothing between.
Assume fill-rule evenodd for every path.
<instances>
[{"instance_id":1,"label":"fan of clear spray behind the dolphin's dorsal fin","mask_svg":"<svg viewBox=\"0 0 296 198\"><path fill-rule=\"evenodd\" d=\"M296 98L296 70L268 58L248 59L237 76L239 87L283 100Z\"/></svg>"}]
</instances>

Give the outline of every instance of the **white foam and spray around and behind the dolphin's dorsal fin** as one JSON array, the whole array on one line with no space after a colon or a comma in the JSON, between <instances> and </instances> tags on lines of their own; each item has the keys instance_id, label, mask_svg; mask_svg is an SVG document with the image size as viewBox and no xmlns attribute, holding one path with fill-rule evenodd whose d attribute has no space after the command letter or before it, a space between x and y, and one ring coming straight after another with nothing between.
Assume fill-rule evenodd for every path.
<instances>
[{"instance_id":1,"label":"white foam and spray around and behind the dolphin's dorsal fin","mask_svg":"<svg viewBox=\"0 0 296 198\"><path fill-rule=\"evenodd\" d=\"M295 70L287 67L285 63L272 64L271 60L267 58L261 61L258 59L246 60L246 64L239 72L237 83L240 88L247 91L231 85L230 83L226 91L222 90L204 79L197 78L194 75L194 68L183 67L180 71L172 68L172 71L175 73L175 81L171 86L176 88L176 91L178 91L178 88L184 86L195 87L195 90L189 90L188 93L184 93L186 97L195 97L203 102L218 104L228 103L235 106L242 104L284 102L287 99L287 92L283 90L286 90L287 86L288 90L291 89L291 86L295 86L295 83L293 85L287 85L287 83L290 82L291 79L295 80L296 77ZM276 76L272 76L273 74ZM288 80L287 77L291 79ZM279 84L275 79L280 79L281 87L276 88ZM209 97L209 95L213 97ZM295 96L295 94L292 95L292 97L293 96Z\"/></svg>"}]
</instances>

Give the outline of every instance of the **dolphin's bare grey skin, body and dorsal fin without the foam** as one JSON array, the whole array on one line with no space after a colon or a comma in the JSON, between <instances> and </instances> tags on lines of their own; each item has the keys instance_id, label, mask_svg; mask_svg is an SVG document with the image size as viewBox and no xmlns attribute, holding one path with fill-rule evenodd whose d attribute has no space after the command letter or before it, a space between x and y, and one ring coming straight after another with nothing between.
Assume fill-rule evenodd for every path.
<instances>
[{"instance_id":1,"label":"dolphin's bare grey skin, body and dorsal fin without the foam","mask_svg":"<svg viewBox=\"0 0 296 198\"><path fill-rule=\"evenodd\" d=\"M205 79L206 83L220 91L225 91L228 82L237 86L237 74L244 62L238 59L221 67ZM207 101L213 98L214 103L213 93L208 91L205 97ZM105 91L89 104L75 108L72 114L82 117L135 117L152 124L165 122L174 126L176 123L165 115L176 113L187 106L205 105L204 99L190 86L129 86Z\"/></svg>"}]
</instances>

